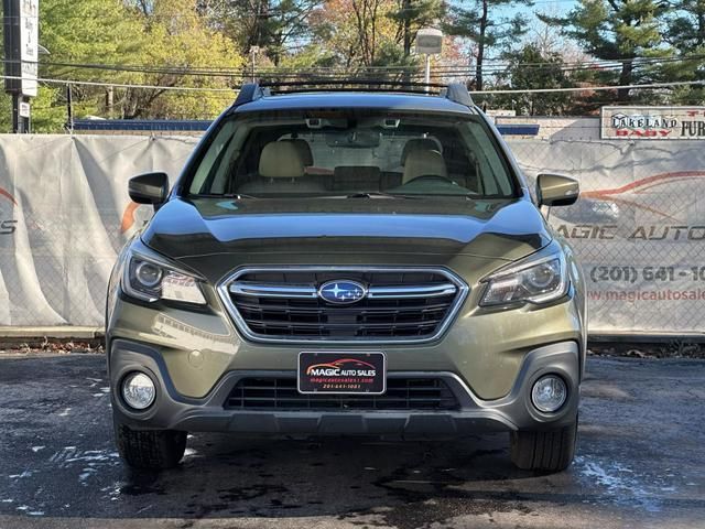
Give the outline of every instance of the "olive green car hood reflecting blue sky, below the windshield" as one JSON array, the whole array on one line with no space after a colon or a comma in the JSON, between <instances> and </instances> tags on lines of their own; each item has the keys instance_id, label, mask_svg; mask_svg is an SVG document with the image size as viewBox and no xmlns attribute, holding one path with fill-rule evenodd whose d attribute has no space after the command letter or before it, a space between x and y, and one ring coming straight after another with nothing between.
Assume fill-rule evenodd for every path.
<instances>
[{"instance_id":1,"label":"olive green car hood reflecting blue sky, below the windshield","mask_svg":"<svg viewBox=\"0 0 705 529\"><path fill-rule=\"evenodd\" d=\"M547 245L551 235L524 198L176 198L154 215L142 240L191 262L226 253L259 261L273 253L345 255L351 262L380 253L512 261Z\"/></svg>"}]
</instances>

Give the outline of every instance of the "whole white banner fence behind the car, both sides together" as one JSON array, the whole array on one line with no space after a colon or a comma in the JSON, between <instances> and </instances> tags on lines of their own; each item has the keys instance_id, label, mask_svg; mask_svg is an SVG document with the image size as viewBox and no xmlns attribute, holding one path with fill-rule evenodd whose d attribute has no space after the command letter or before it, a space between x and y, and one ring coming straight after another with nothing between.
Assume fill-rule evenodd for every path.
<instances>
[{"instance_id":1,"label":"whole white banner fence behind the car, both sides together","mask_svg":"<svg viewBox=\"0 0 705 529\"><path fill-rule=\"evenodd\" d=\"M530 177L581 181L550 222L578 253L593 334L702 333L705 144L556 134L510 141ZM108 276L151 214L130 176L175 176L197 138L0 136L0 326L102 325Z\"/></svg>"}]
</instances>

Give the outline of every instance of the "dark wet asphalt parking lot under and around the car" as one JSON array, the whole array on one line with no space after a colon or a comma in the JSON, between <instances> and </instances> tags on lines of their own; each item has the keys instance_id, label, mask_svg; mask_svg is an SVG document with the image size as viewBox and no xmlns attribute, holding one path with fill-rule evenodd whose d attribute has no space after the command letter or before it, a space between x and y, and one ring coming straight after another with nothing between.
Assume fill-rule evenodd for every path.
<instances>
[{"instance_id":1,"label":"dark wet asphalt parking lot under and around the car","mask_svg":"<svg viewBox=\"0 0 705 529\"><path fill-rule=\"evenodd\" d=\"M184 464L115 452L99 355L0 353L0 528L705 527L705 360L589 359L574 465L513 469L507 438L196 434Z\"/></svg>"}]
</instances>

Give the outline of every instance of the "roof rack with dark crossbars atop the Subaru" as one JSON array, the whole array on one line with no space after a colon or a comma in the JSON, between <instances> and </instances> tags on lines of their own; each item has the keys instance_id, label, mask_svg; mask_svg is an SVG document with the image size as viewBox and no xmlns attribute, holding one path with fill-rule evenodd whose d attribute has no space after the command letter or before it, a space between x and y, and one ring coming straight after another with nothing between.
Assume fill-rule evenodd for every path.
<instances>
[{"instance_id":1,"label":"roof rack with dark crossbars atop the Subaru","mask_svg":"<svg viewBox=\"0 0 705 529\"><path fill-rule=\"evenodd\" d=\"M382 91L435 95L467 107L474 105L467 86L463 83L444 85L388 79L313 79L248 83L240 88L234 106L245 105L269 95L318 91Z\"/></svg>"}]
</instances>

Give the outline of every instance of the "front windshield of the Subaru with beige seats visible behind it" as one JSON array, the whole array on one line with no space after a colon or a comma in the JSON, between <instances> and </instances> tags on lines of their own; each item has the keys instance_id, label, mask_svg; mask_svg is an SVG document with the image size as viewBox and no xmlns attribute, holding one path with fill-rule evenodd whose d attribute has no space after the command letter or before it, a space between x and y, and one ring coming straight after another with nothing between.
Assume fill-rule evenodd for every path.
<instances>
[{"instance_id":1,"label":"front windshield of the Subaru with beige seats visible behind it","mask_svg":"<svg viewBox=\"0 0 705 529\"><path fill-rule=\"evenodd\" d=\"M326 110L230 117L197 162L188 192L507 198L514 184L479 116Z\"/></svg>"}]
</instances>

